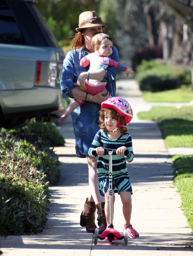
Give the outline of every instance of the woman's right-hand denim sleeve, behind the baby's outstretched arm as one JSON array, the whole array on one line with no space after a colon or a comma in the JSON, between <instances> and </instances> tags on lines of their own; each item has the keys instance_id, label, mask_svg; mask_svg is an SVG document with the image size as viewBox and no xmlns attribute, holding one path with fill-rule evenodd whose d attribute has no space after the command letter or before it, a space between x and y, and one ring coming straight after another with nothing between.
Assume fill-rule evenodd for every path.
<instances>
[{"instance_id":1,"label":"woman's right-hand denim sleeve, behind the baby's outstretched arm","mask_svg":"<svg viewBox=\"0 0 193 256\"><path fill-rule=\"evenodd\" d=\"M115 46L113 46L113 52L109 57L118 62L119 55L118 55L118 50ZM106 75L105 75L105 78L103 79L103 82L107 82L107 83L113 82L116 79L116 76L118 74L118 70L111 67L111 66L108 66L108 65L104 65L103 69L106 69L106 71L107 71Z\"/></svg>"}]
</instances>

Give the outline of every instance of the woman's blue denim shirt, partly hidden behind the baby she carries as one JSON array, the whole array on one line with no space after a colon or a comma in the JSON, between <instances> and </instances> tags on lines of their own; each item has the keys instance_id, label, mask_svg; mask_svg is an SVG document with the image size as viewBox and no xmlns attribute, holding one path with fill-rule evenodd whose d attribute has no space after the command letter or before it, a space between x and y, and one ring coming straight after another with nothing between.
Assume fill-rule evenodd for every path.
<instances>
[{"instance_id":1,"label":"woman's blue denim shirt, partly hidden behind the baby she carries","mask_svg":"<svg viewBox=\"0 0 193 256\"><path fill-rule=\"evenodd\" d=\"M81 72L87 72L89 67L81 67L80 60L84 56L89 54L87 50L79 48L69 51L66 58L63 61L63 72L60 79L61 91L70 98L74 98L72 95L72 88L76 86L78 76ZM118 50L113 46L113 52L109 56L111 59L118 61ZM106 75L103 82L107 82L106 90L109 91L112 97L116 96L116 75L118 71L110 66L103 66L106 69Z\"/></svg>"}]
</instances>

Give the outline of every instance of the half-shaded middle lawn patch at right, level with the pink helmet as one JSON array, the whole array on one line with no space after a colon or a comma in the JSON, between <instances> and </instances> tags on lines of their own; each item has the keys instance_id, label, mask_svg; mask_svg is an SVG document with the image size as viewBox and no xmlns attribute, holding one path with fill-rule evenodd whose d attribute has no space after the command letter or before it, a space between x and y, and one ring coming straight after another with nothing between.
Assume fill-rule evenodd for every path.
<instances>
[{"instance_id":1,"label":"half-shaded middle lawn patch at right, level with the pink helmet","mask_svg":"<svg viewBox=\"0 0 193 256\"><path fill-rule=\"evenodd\" d=\"M153 106L150 111L139 112L139 119L153 120L162 131L166 147L193 147L193 106Z\"/></svg>"}]
</instances>

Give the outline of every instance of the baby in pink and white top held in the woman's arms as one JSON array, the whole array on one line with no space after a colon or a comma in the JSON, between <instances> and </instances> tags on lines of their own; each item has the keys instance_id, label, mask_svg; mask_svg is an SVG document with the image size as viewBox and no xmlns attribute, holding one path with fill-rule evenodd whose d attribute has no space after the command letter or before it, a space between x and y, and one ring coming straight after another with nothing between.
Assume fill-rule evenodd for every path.
<instances>
[{"instance_id":1,"label":"baby in pink and white top held in the woman's arms","mask_svg":"<svg viewBox=\"0 0 193 256\"><path fill-rule=\"evenodd\" d=\"M127 77L134 74L133 71L129 70L127 66L124 66L120 62L116 62L114 59L109 58L112 54L113 40L108 34L98 33L92 38L92 46L94 49L93 53L84 56L80 61L80 66L87 67L90 65L89 71L87 73L87 82L84 86L81 86L81 90L86 91L85 100L75 99L73 100L63 116L60 117L60 121L65 122L68 116L81 104L85 103L86 100L92 101L92 97L87 99L88 94L98 94L100 92L106 91L106 82L101 82L98 80L89 80L89 72L95 69L102 69L103 66L112 66L118 71L125 72ZM106 95L106 94L104 94Z\"/></svg>"}]
</instances>

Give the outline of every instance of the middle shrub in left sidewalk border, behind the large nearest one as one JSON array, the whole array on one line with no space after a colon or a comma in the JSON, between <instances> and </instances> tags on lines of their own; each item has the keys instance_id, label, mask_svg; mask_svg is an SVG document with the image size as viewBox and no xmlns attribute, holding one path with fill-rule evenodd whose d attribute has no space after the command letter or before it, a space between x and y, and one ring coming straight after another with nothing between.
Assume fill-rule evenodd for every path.
<instances>
[{"instance_id":1,"label":"middle shrub in left sidewalk border, behind the large nearest one","mask_svg":"<svg viewBox=\"0 0 193 256\"><path fill-rule=\"evenodd\" d=\"M0 138L0 159L8 164L10 159L15 159L16 163L19 163L20 159L24 159L28 165L36 167L45 181L49 181L51 185L57 184L60 178L58 168L60 162L53 149L41 144L41 139L37 140L36 134L34 134L34 145L24 140L24 138L25 133L21 130L18 133L9 133L8 136L6 132L3 132ZM30 134L30 136L27 134L27 139L29 138L32 140L33 134Z\"/></svg>"}]
</instances>

